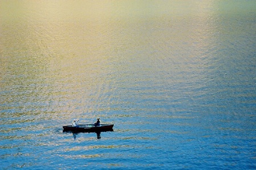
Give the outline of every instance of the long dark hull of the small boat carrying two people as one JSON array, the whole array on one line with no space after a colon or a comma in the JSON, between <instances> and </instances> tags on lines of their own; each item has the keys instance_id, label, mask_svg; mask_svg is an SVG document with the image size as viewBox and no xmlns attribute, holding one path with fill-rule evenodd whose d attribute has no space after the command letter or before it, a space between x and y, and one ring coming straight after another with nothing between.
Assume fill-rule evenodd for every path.
<instances>
[{"instance_id":1,"label":"long dark hull of the small boat carrying two people","mask_svg":"<svg viewBox=\"0 0 256 170\"><path fill-rule=\"evenodd\" d=\"M72 132L101 132L101 131L113 131L113 124L101 124L101 126L94 126L94 124L79 125L73 127L72 125L63 126L63 131Z\"/></svg>"}]
</instances>

